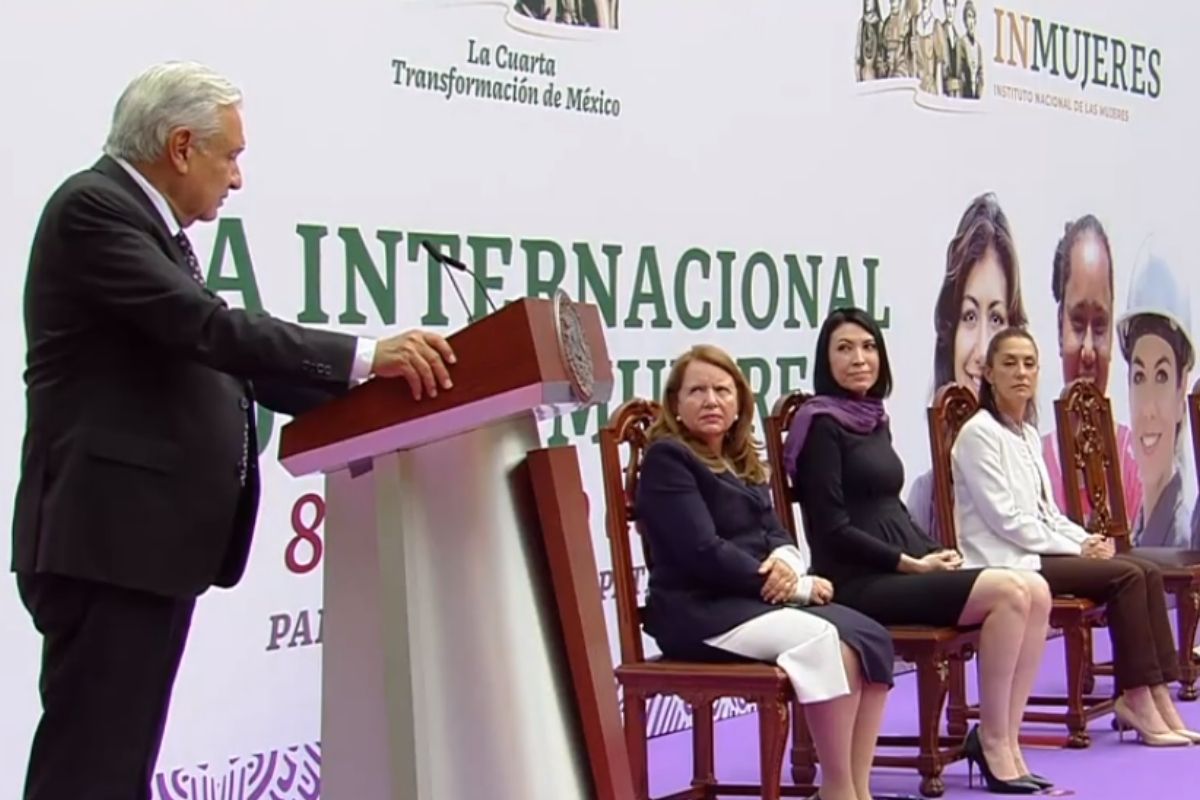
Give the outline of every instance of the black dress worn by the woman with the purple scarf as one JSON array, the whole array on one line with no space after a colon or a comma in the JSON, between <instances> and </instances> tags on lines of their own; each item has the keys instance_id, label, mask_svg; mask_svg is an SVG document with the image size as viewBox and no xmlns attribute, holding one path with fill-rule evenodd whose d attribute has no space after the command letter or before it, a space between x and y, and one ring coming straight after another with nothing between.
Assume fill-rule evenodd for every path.
<instances>
[{"instance_id":1,"label":"black dress worn by the woman with the purple scarf","mask_svg":"<svg viewBox=\"0 0 1200 800\"><path fill-rule=\"evenodd\" d=\"M942 549L904 503L904 464L881 425L858 434L829 415L809 427L792 475L812 551L812 570L839 603L884 625L956 625L982 570L906 575L900 555Z\"/></svg>"}]
</instances>

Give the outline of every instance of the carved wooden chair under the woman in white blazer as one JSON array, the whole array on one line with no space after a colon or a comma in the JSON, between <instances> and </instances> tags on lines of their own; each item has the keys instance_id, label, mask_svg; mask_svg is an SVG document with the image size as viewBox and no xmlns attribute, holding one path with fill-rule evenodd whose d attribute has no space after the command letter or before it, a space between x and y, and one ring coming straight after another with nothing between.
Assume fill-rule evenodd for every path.
<instances>
[{"instance_id":1,"label":"carved wooden chair under the woman in white blazer","mask_svg":"<svg viewBox=\"0 0 1200 800\"><path fill-rule=\"evenodd\" d=\"M950 452L959 431L970 420L979 404L974 392L958 384L942 386L929 408L929 449L934 464L934 509L938 521L938 535L944 547L958 548L958 530L954 524L954 474ZM1112 712L1111 697L1091 697L1085 686L1092 663L1092 628L1103 627L1104 607L1080 597L1056 596L1050 610L1050 627L1061 630L1066 644L1067 696L1033 696L1030 705L1063 705L1062 711L1026 710L1026 722L1050 722L1067 727L1068 747L1087 747L1091 736L1087 723L1096 717ZM947 708L949 733L965 733L967 720L979 718L979 706L966 703L966 680L961 663L955 663L958 674L950 681L950 702Z\"/></svg>"}]
</instances>

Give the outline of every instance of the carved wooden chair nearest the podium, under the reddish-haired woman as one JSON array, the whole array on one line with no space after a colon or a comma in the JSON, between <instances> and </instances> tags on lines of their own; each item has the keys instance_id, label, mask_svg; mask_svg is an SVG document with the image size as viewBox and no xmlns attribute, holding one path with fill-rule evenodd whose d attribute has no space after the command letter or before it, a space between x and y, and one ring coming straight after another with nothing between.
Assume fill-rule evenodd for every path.
<instances>
[{"instance_id":1,"label":"carved wooden chair nearest the podium, under the reddish-haired woman","mask_svg":"<svg viewBox=\"0 0 1200 800\"><path fill-rule=\"evenodd\" d=\"M636 525L634 498L638 470L647 446L646 433L658 404L631 399L600 429L600 462L604 473L606 528L612 552L617 596L620 664L617 681L624 690L625 742L634 772L636 800L649 798L646 702L658 694L674 694L692 710L691 787L660 800L713 800L718 795L749 795L778 800L808 795L814 787L781 786L784 747L787 742L788 706L796 697L782 669L764 663L691 663L647 658L642 646L642 608L631 555L631 525ZM622 449L628 456L622 462ZM642 554L650 567L644 542ZM757 704L762 783L718 783L713 750L713 704L722 697L740 697ZM806 739L806 736L805 736ZM809 775L811 781L812 775Z\"/></svg>"}]
</instances>

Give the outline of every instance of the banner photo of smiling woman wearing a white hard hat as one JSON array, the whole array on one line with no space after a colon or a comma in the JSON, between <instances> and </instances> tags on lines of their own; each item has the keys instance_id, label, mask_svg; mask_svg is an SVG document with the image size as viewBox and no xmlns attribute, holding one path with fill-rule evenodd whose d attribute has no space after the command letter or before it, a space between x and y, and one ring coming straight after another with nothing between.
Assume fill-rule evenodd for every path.
<instances>
[{"instance_id":1,"label":"banner photo of smiling woman wearing a white hard hat","mask_svg":"<svg viewBox=\"0 0 1200 800\"><path fill-rule=\"evenodd\" d=\"M1129 422L1142 486L1132 518L1134 547L1200 545L1194 503L1186 499L1181 440L1195 363L1192 302L1182 272L1147 241L1134 266L1129 302L1117 324L1129 366Z\"/></svg>"}]
</instances>

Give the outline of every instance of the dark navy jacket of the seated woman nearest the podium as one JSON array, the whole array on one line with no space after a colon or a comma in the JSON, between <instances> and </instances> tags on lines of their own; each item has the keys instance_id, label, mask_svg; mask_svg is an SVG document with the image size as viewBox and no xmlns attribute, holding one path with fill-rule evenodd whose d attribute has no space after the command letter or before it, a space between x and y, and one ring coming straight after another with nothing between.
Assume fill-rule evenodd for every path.
<instances>
[{"instance_id":1,"label":"dark navy jacket of the seated woman nearest the podium","mask_svg":"<svg viewBox=\"0 0 1200 800\"><path fill-rule=\"evenodd\" d=\"M778 606L762 600L760 565L794 545L767 486L714 473L676 439L642 459L634 509L650 546L646 631L668 657L706 651L704 639Z\"/></svg>"}]
</instances>

